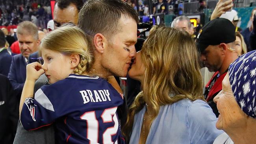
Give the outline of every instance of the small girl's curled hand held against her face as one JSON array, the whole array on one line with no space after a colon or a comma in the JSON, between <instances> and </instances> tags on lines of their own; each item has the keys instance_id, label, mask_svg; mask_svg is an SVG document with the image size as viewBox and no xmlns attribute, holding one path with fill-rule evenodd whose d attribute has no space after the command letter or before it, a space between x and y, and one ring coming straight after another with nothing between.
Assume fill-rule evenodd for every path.
<instances>
[{"instance_id":1,"label":"small girl's curled hand held against her face","mask_svg":"<svg viewBox=\"0 0 256 144\"><path fill-rule=\"evenodd\" d=\"M45 70L42 69L42 65L38 62L28 64L26 70L26 80L30 81L36 81L43 73L45 73Z\"/></svg>"}]
</instances>

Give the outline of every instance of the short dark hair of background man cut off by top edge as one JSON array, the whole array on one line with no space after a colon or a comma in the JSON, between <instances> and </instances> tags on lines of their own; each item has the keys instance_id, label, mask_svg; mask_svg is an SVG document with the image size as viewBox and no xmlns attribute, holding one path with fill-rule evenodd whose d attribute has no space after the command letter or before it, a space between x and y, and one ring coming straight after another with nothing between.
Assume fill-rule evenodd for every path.
<instances>
[{"instance_id":1,"label":"short dark hair of background man cut off by top edge","mask_svg":"<svg viewBox=\"0 0 256 144\"><path fill-rule=\"evenodd\" d=\"M67 8L70 4L74 4L78 11L83 7L83 0L56 0L60 9Z\"/></svg>"}]
</instances>

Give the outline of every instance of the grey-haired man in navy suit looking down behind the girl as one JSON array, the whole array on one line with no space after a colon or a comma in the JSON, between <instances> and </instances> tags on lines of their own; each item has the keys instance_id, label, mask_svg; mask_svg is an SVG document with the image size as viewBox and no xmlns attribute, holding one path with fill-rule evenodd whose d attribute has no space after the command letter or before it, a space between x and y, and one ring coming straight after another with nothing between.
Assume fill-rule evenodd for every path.
<instances>
[{"instance_id":1,"label":"grey-haired man in navy suit looking down behind the girl","mask_svg":"<svg viewBox=\"0 0 256 144\"><path fill-rule=\"evenodd\" d=\"M13 89L21 94L26 80L28 57L37 51L39 44L37 26L29 21L21 22L17 28L17 37L21 54L13 56L8 78Z\"/></svg>"}]
</instances>

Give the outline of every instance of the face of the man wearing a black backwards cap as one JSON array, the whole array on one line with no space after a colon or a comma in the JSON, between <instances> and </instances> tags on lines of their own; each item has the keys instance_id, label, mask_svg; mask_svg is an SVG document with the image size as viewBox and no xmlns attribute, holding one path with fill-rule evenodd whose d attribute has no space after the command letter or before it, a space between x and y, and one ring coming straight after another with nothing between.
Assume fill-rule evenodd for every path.
<instances>
[{"instance_id":1,"label":"face of the man wearing a black backwards cap","mask_svg":"<svg viewBox=\"0 0 256 144\"><path fill-rule=\"evenodd\" d=\"M221 68L223 60L219 51L219 45L209 45L200 56L204 66L206 66L210 72L216 72Z\"/></svg>"}]
</instances>

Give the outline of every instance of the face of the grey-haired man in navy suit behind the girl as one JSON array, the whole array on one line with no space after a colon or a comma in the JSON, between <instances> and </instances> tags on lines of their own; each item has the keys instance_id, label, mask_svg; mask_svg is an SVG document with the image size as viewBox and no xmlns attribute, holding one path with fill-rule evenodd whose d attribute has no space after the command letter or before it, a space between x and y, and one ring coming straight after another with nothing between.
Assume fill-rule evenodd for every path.
<instances>
[{"instance_id":1,"label":"face of the grey-haired man in navy suit behind the girl","mask_svg":"<svg viewBox=\"0 0 256 144\"><path fill-rule=\"evenodd\" d=\"M30 54L37 51L39 41L38 39L35 39L32 35L20 35L18 33L17 38L19 41L20 52L24 57L28 58Z\"/></svg>"}]
</instances>

